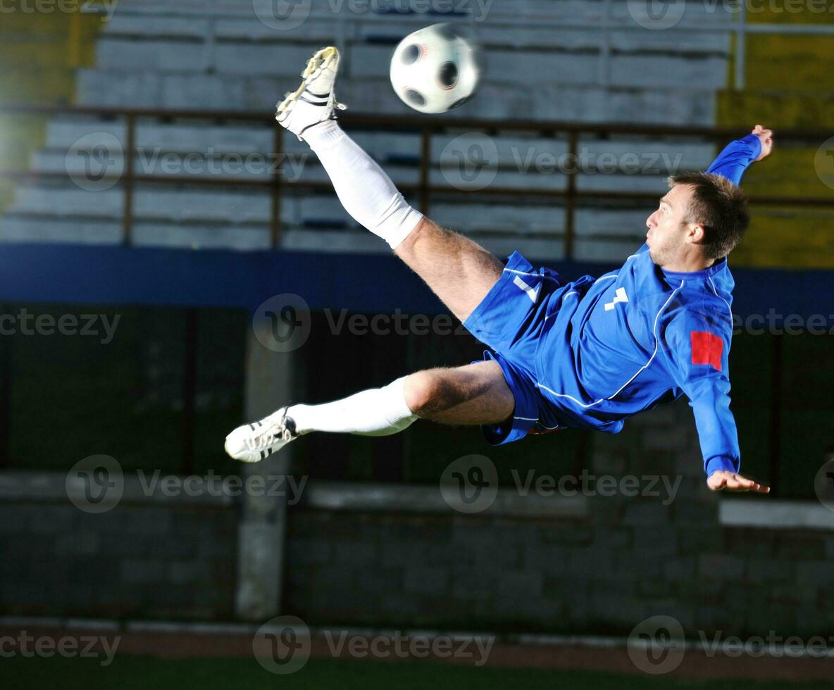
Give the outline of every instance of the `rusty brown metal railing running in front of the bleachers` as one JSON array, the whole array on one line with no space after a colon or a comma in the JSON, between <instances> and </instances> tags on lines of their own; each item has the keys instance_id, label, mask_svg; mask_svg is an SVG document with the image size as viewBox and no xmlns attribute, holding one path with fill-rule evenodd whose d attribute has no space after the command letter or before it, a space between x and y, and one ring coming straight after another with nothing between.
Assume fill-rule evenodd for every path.
<instances>
[{"instance_id":1,"label":"rusty brown metal railing running in front of the bleachers","mask_svg":"<svg viewBox=\"0 0 834 690\"><path fill-rule=\"evenodd\" d=\"M268 189L271 204L269 216L270 246L279 248L281 245L281 198L285 191L309 191L321 192L332 191L329 183L304 182L303 180L291 181L284 179L282 166L274 167L268 179L242 179L229 176L198 176L198 175L153 175L137 174L134 170L136 162L137 146L136 131L137 123L141 119L155 119L165 122L172 120L198 120L198 121L234 121L234 122L260 122L264 125L272 123L273 129L273 153L283 153L284 130L274 122L271 113L259 112L224 112L205 110L163 110L163 109L135 109L135 108L102 108L102 107L31 107L31 106L8 106L0 107L0 114L13 115L72 115L89 116L98 118L121 117L125 122L125 141L123 147L123 172L118 176L103 175L101 181L118 182L123 188L123 217L122 217L122 239L123 243L133 243L134 223L134 191L138 184L193 184L193 185L223 185L240 188L262 188ZM340 116L341 122L347 128L364 128L373 131L407 131L420 133L420 181L419 183L399 184L400 191L406 194L413 194L419 199L419 208L422 213L430 214L431 199L434 195L459 196L477 194L480 197L507 197L514 198L538 198L552 199L564 206L565 232L564 256L565 259L573 257L575 243L575 215L580 203L589 201L615 201L621 203L651 202L656 203L656 193L637 193L631 191L597 191L578 188L577 176L581 173L579 168L571 168L565 171L567 177L564 189L525 189L525 188L502 188L490 186L477 192L471 192L452 186L439 186L430 182L432 168L431 145L433 138L446 130L461 130L475 132L494 132L500 129L502 132L535 133L543 136L565 135L567 139L567 155L571 160L577 160L579 155L579 140L581 135L610 136L610 135L644 135L644 136L665 136L678 138L697 138L722 146L727 141L740 138L744 132L739 128L718 128L718 127L672 127L672 126L648 126L622 123L584 123L584 122L540 122L540 121L494 121L485 119L464 119L453 117L391 117L384 115L369 115L357 113L344 113ZM821 142L830 137L827 132L813 132L805 129L780 130L776 133L781 145L785 143L811 144L818 146ZM280 159L279 159L280 160ZM0 177L13 178L18 180L62 179L69 178L68 172L38 172L38 171L0 171ZM834 195L822 198L800 198L800 197L751 197L751 204L767 204L773 207L821 207L834 209Z\"/></svg>"}]
</instances>

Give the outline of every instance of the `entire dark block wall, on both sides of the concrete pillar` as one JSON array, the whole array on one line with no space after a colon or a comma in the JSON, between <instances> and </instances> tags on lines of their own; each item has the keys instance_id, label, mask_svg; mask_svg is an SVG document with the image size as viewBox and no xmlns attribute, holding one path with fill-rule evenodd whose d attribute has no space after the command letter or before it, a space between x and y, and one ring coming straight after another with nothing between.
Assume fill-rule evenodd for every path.
<instances>
[{"instance_id":1,"label":"entire dark block wall, on both sides of the concrete pillar","mask_svg":"<svg viewBox=\"0 0 834 690\"><path fill-rule=\"evenodd\" d=\"M523 443L546 453L559 438ZM510 487L494 512L465 515L436 485L402 488L394 507L384 490L309 483L289 507L281 612L310 625L595 634L664 614L690 636L831 634L834 517L816 529L721 524L721 502L769 499L706 489L684 401L596 435L591 458L597 477L680 477L674 500L590 496L560 512L559 496ZM525 505L532 517L519 517ZM104 515L0 502L0 611L232 619L238 525L229 502Z\"/></svg>"}]
</instances>

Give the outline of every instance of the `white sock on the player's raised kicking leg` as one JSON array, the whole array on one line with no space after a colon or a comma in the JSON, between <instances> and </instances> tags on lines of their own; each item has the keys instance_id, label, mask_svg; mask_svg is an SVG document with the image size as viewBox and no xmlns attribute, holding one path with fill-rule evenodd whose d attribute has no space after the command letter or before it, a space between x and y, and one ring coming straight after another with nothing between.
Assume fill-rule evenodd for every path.
<instances>
[{"instance_id":1,"label":"white sock on the player's raised kicking leg","mask_svg":"<svg viewBox=\"0 0 834 690\"><path fill-rule=\"evenodd\" d=\"M310 128L304 140L329 174L344 210L396 249L423 214L406 203L391 178L338 122L328 120Z\"/></svg>"}]
</instances>

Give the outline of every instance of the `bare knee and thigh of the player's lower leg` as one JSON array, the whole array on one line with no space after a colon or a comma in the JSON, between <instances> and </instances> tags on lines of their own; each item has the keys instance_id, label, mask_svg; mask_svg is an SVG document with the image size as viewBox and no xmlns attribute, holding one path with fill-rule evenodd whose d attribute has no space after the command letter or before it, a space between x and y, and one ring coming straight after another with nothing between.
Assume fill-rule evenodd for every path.
<instances>
[{"instance_id":1,"label":"bare knee and thigh of the player's lower leg","mask_svg":"<svg viewBox=\"0 0 834 690\"><path fill-rule=\"evenodd\" d=\"M500 423L515 407L504 373L492 361L411 374L405 402L420 418L450 424Z\"/></svg>"}]
</instances>

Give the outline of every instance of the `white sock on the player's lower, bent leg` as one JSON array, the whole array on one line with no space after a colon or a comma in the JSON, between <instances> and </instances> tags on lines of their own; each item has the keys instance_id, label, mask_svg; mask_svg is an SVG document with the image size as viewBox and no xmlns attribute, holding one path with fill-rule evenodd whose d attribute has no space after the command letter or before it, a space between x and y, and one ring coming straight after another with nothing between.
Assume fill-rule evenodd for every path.
<instances>
[{"instance_id":1,"label":"white sock on the player's lower, bent leg","mask_svg":"<svg viewBox=\"0 0 834 690\"><path fill-rule=\"evenodd\" d=\"M319 431L391 436L417 420L417 415L405 403L404 383L405 377L398 378L385 388L356 393L335 403L292 405L287 416L293 418L299 433Z\"/></svg>"}]
</instances>

